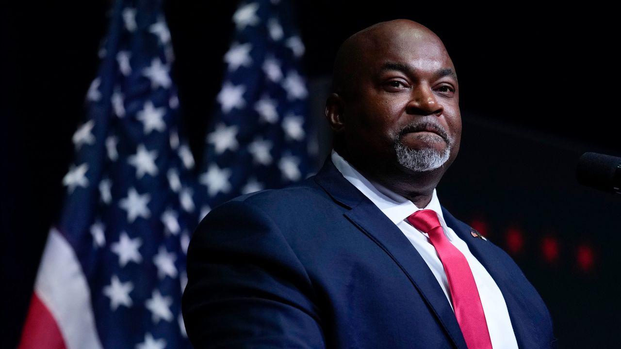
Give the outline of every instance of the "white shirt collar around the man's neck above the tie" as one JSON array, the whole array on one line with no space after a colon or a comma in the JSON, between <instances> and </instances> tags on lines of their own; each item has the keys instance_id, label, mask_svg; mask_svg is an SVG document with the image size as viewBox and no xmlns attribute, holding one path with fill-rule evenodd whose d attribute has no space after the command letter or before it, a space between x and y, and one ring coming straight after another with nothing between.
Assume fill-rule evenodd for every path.
<instances>
[{"instance_id":1,"label":"white shirt collar around the man's neck above the tie","mask_svg":"<svg viewBox=\"0 0 621 349\"><path fill-rule=\"evenodd\" d=\"M394 193L391 189L375 181L370 181L365 178L365 176L358 172L358 170L351 166L347 160L343 159L343 157L338 155L334 150L332 150L331 156L332 163L334 163L337 170L343 174L343 177L353 184L361 193L365 194L365 196L394 224L406 219L410 214L421 210L412 201ZM435 189L433 189L431 201L422 209L433 210L438 215L440 224L446 226L446 222L442 215L442 207L440 206L440 201L438 200Z\"/></svg>"}]
</instances>

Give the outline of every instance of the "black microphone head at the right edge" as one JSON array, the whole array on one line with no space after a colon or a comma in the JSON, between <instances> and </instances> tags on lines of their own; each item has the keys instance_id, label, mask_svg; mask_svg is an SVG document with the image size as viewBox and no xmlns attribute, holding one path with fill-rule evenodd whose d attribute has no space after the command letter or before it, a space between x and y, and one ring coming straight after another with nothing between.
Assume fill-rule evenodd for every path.
<instances>
[{"instance_id":1,"label":"black microphone head at the right edge","mask_svg":"<svg viewBox=\"0 0 621 349\"><path fill-rule=\"evenodd\" d=\"M582 185L621 194L621 158L584 153L578 160L576 178Z\"/></svg>"}]
</instances>

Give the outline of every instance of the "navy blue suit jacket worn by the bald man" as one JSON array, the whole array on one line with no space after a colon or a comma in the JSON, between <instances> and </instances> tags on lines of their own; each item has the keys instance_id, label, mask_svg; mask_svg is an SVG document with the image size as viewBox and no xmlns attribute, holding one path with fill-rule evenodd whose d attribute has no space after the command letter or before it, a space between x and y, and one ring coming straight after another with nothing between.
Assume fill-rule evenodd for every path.
<instances>
[{"instance_id":1,"label":"navy blue suit jacket worn by the bald man","mask_svg":"<svg viewBox=\"0 0 621 349\"><path fill-rule=\"evenodd\" d=\"M554 347L548 309L514 261L443 215L501 289L519 347ZM330 160L202 220L183 317L196 348L466 349L425 261Z\"/></svg>"}]
</instances>

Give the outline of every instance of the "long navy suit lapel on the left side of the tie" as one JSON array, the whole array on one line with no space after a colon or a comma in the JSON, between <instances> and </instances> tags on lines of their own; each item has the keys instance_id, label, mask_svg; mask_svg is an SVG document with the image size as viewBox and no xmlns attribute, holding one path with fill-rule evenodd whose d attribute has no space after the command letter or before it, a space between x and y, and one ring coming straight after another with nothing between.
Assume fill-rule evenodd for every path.
<instances>
[{"instance_id":1,"label":"long navy suit lapel on the left side of the tie","mask_svg":"<svg viewBox=\"0 0 621 349\"><path fill-rule=\"evenodd\" d=\"M325 162L322 170L315 176L315 181L335 201L350 209L345 213L345 217L394 260L425 299L455 346L465 349L466 342L455 313L440 284L401 230L373 202L349 183L332 161Z\"/></svg>"}]
</instances>

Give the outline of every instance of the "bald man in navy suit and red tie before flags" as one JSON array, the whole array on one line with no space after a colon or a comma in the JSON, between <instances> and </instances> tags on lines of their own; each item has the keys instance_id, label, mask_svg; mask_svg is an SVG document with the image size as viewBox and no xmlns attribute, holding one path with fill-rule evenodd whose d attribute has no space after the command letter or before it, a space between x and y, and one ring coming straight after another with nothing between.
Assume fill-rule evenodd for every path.
<instances>
[{"instance_id":1,"label":"bald man in navy suit and red tie before flags","mask_svg":"<svg viewBox=\"0 0 621 349\"><path fill-rule=\"evenodd\" d=\"M438 37L410 20L343 43L325 112L334 152L304 183L201 222L183 315L197 348L550 348L514 261L440 206L461 137Z\"/></svg>"}]
</instances>

